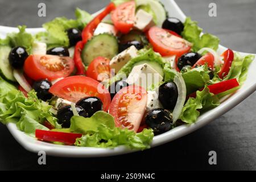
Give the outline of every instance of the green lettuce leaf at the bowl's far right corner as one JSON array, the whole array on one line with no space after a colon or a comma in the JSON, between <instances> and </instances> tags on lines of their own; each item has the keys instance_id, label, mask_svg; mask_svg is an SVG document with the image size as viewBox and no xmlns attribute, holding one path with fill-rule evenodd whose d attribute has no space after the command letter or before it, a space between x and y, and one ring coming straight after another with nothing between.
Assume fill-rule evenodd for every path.
<instances>
[{"instance_id":1,"label":"green lettuce leaf at the bowl's far right corner","mask_svg":"<svg viewBox=\"0 0 256 182\"><path fill-rule=\"evenodd\" d=\"M254 55L247 55L245 57L241 56L240 53L236 52L234 55L234 60L232 62L230 71L224 80L230 80L232 78L237 78L240 85L245 82L247 77L247 72L251 62L254 60Z\"/></svg>"}]
</instances>

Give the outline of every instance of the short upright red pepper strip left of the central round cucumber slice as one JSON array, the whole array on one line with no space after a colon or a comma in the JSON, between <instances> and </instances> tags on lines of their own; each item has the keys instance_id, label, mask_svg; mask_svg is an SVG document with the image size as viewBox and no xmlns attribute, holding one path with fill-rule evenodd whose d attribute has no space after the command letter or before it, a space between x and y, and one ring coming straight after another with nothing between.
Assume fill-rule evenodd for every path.
<instances>
[{"instance_id":1,"label":"short upright red pepper strip left of the central round cucumber slice","mask_svg":"<svg viewBox=\"0 0 256 182\"><path fill-rule=\"evenodd\" d=\"M76 75L85 75L84 64L82 64L81 52L84 48L82 41L77 42L74 52L74 63L76 67Z\"/></svg>"}]
</instances>

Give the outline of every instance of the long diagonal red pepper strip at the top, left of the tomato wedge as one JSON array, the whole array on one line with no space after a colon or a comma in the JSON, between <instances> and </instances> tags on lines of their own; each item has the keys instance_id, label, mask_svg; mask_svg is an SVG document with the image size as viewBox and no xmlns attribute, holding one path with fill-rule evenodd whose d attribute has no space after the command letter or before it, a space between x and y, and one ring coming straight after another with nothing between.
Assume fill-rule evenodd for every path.
<instances>
[{"instance_id":1,"label":"long diagonal red pepper strip at the top, left of the tomato wedge","mask_svg":"<svg viewBox=\"0 0 256 182\"><path fill-rule=\"evenodd\" d=\"M104 11L102 11L100 14L98 14L90 23L87 24L87 26L82 30L82 42L86 44L90 38L93 37L93 32L98 26L98 24L101 23L101 20L106 17L111 11L115 9L114 3L110 3Z\"/></svg>"}]
</instances>

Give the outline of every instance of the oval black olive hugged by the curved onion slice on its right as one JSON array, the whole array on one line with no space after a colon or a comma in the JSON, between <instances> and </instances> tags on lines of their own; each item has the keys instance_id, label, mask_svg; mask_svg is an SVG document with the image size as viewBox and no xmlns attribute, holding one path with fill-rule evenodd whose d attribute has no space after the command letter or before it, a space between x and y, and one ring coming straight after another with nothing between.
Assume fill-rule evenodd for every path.
<instances>
[{"instance_id":1,"label":"oval black olive hugged by the curved onion slice on its right","mask_svg":"<svg viewBox=\"0 0 256 182\"><path fill-rule=\"evenodd\" d=\"M164 109L174 110L177 97L177 85L174 82L166 82L159 86L158 99L163 105Z\"/></svg>"}]
</instances>

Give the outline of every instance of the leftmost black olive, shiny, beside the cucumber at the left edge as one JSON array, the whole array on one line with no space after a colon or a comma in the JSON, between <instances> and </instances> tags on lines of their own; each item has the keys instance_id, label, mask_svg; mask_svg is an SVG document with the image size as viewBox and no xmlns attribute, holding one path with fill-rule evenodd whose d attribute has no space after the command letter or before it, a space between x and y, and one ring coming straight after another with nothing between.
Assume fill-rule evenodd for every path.
<instances>
[{"instance_id":1,"label":"leftmost black olive, shiny, beside the cucumber at the left edge","mask_svg":"<svg viewBox=\"0 0 256 182\"><path fill-rule=\"evenodd\" d=\"M28 53L24 47L15 47L9 53L9 63L13 68L20 69L23 67L27 57Z\"/></svg>"}]
</instances>

